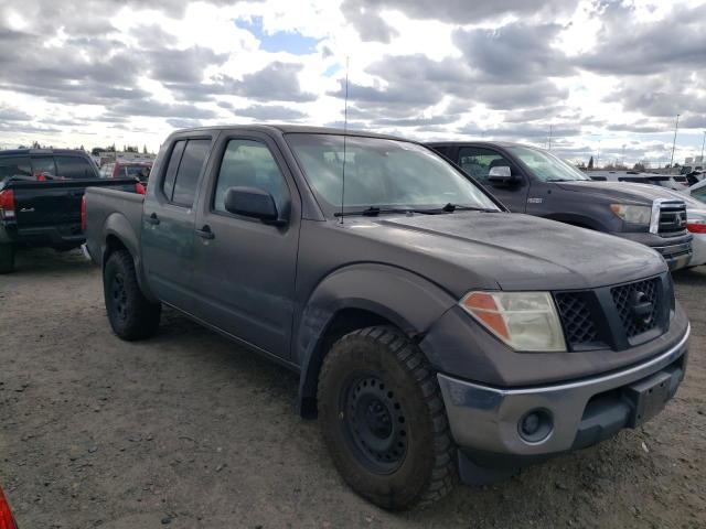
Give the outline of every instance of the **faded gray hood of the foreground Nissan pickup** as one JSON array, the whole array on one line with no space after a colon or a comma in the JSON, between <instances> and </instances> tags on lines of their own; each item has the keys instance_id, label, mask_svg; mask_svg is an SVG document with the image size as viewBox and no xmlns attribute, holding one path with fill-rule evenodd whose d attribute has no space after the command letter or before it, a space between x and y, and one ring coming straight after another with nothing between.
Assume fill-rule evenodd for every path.
<instances>
[{"instance_id":1,"label":"faded gray hood of the foreground Nissan pickup","mask_svg":"<svg viewBox=\"0 0 706 529\"><path fill-rule=\"evenodd\" d=\"M357 227L378 229L361 229L359 235L409 250L396 256L398 266L457 294L469 285L596 288L666 271L660 255L645 246L528 215L459 212L360 223Z\"/></svg>"}]
</instances>

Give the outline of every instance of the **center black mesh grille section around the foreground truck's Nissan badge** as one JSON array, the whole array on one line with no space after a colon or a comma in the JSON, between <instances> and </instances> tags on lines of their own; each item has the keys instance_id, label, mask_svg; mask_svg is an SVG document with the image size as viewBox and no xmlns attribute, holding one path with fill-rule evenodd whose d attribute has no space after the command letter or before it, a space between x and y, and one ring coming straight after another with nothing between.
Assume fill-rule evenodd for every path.
<instances>
[{"instance_id":1,"label":"center black mesh grille section around the foreground truck's Nissan badge","mask_svg":"<svg viewBox=\"0 0 706 529\"><path fill-rule=\"evenodd\" d=\"M660 310L660 280L659 278L638 281L610 289L616 309L628 338L646 333L657 325ZM651 303L651 312L644 317L635 317L633 306L635 303Z\"/></svg>"}]
</instances>

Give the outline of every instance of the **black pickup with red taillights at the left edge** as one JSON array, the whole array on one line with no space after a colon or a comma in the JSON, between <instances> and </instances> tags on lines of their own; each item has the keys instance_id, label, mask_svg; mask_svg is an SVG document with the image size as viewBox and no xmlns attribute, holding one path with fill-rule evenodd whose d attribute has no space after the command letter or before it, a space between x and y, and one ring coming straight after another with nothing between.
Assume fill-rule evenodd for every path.
<instances>
[{"instance_id":1,"label":"black pickup with red taillights at the left edge","mask_svg":"<svg viewBox=\"0 0 706 529\"><path fill-rule=\"evenodd\" d=\"M136 179L106 181L83 151L0 151L0 273L22 247L78 248L85 240L81 199L88 186L143 191Z\"/></svg>"}]
</instances>

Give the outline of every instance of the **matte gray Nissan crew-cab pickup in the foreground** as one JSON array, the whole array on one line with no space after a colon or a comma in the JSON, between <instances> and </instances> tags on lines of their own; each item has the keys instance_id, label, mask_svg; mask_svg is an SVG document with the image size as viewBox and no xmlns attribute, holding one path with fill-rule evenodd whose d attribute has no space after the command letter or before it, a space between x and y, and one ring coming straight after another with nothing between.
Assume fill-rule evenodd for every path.
<instances>
[{"instance_id":1,"label":"matte gray Nissan crew-cab pickup in the foreground","mask_svg":"<svg viewBox=\"0 0 706 529\"><path fill-rule=\"evenodd\" d=\"M167 304L298 371L299 412L384 508L639 427L684 377L656 252L510 214L415 142L184 130L146 196L89 188L86 215L119 337Z\"/></svg>"}]
</instances>

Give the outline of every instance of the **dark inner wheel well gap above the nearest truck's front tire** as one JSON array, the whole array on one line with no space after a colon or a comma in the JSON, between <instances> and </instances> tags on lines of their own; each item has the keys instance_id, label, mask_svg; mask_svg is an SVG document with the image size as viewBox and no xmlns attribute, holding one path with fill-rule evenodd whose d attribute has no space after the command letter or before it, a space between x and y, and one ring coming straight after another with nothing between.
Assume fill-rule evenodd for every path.
<instances>
[{"instance_id":1,"label":"dark inner wheel well gap above the nearest truck's front tire","mask_svg":"<svg viewBox=\"0 0 706 529\"><path fill-rule=\"evenodd\" d=\"M317 345L311 354L301 386L299 411L306 419L314 419L318 414L317 392L319 387L319 373L323 365L323 358L331 346L341 337L357 330L376 325L395 326L386 317L363 309L342 309L331 319L325 330L319 336Z\"/></svg>"}]
</instances>

